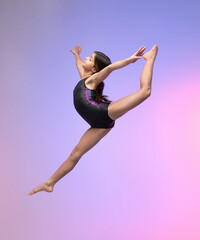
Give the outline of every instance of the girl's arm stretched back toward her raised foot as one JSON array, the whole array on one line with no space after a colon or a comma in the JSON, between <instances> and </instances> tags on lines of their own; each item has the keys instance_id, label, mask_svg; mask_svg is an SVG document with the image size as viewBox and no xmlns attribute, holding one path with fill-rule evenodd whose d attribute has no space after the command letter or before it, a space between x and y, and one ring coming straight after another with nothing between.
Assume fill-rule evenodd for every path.
<instances>
[{"instance_id":1,"label":"girl's arm stretched back toward her raised foot","mask_svg":"<svg viewBox=\"0 0 200 240\"><path fill-rule=\"evenodd\" d=\"M114 62L110 65L108 65L107 67L105 67L104 69L102 69L100 72L97 72L95 74L93 74L91 77L93 78L93 80L95 81L95 83L97 84L97 86L99 85L99 83L103 82L104 79L107 78L107 76L114 70L119 69L119 68L123 68L125 66L127 66L130 63L134 63L136 62L138 59L141 58L141 56L144 54L146 47L141 47L136 53L134 53L131 57L126 58L124 60L121 61L117 61Z\"/></svg>"}]
</instances>

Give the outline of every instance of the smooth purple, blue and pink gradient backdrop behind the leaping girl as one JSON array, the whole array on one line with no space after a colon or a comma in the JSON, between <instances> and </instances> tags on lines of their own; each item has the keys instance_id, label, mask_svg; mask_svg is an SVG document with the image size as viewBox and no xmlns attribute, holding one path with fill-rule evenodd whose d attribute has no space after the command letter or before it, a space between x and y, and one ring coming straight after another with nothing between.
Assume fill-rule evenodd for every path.
<instances>
[{"instance_id":1,"label":"smooth purple, blue and pink gradient backdrop behind the leaping girl","mask_svg":"<svg viewBox=\"0 0 200 240\"><path fill-rule=\"evenodd\" d=\"M199 1L0 1L0 239L200 239ZM69 52L112 62L157 43L152 94L61 179L90 127L73 106ZM139 89L145 61L113 72L113 101Z\"/></svg>"}]
</instances>

